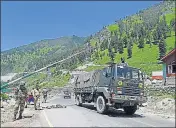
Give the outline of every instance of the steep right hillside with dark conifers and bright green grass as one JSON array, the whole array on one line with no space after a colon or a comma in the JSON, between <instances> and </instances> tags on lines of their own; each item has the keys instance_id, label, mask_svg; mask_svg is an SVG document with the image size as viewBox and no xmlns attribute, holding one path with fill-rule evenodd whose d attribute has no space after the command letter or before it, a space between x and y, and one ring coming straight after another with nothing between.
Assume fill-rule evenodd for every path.
<instances>
[{"instance_id":1,"label":"steep right hillside with dark conifers and bright green grass","mask_svg":"<svg viewBox=\"0 0 176 128\"><path fill-rule=\"evenodd\" d=\"M96 48L92 61L97 64L124 57L148 74L161 70L158 61L175 47L175 3L162 2L104 26L90 43Z\"/></svg>"}]
</instances>

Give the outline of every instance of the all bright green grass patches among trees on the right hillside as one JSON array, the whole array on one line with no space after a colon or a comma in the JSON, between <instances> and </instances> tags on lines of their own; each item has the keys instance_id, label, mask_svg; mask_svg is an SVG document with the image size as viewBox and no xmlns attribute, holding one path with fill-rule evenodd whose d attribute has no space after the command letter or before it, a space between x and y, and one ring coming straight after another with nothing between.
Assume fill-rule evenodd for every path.
<instances>
[{"instance_id":1,"label":"all bright green grass patches among trees on the right hillside","mask_svg":"<svg viewBox=\"0 0 176 128\"><path fill-rule=\"evenodd\" d=\"M171 14L166 14L166 21L167 24L170 24L170 21L175 17L173 13ZM141 21L138 20L137 17L134 17L133 19L134 22L141 23ZM125 21L124 21L125 22ZM118 26L115 24L109 25L108 27L109 31L115 31L118 29ZM173 48L175 48L175 32L172 31L171 37L166 38L166 45L167 45L167 53L171 51ZM91 45L95 46L96 40L91 40ZM141 68L143 71L145 71L147 74L151 74L152 71L156 70L162 70L162 65L157 64L158 63L158 57L159 57L159 49L157 45L153 45L151 48L148 44L145 44L145 47L143 49L139 49L136 44L133 46L133 56L130 59L127 59L127 49L124 49L123 54L117 53L115 56L115 62L120 62L121 57L125 57L126 61L128 62L129 65ZM105 56L102 57L102 59L94 60L95 64L105 64L108 61L110 61L109 57L107 56L108 50L106 49L105 51ZM99 52L101 54L102 52ZM150 53L150 54L149 54ZM92 57L94 54L92 55ZM89 69L86 69L88 71L95 70L95 69L100 69L101 67L94 67L91 66Z\"/></svg>"}]
</instances>

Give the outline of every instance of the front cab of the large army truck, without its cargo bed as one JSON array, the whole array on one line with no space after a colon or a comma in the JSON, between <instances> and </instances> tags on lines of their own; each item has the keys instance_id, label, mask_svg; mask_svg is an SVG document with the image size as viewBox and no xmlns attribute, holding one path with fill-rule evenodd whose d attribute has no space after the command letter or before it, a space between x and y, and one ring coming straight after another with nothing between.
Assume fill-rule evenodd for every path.
<instances>
[{"instance_id":1,"label":"front cab of the large army truck, without its cargo bed","mask_svg":"<svg viewBox=\"0 0 176 128\"><path fill-rule=\"evenodd\" d=\"M108 86L108 106L124 108L127 114L133 114L137 105L145 103L143 73L127 64L110 64L104 69L104 76L111 82ZM109 97L108 97L109 95Z\"/></svg>"}]
</instances>

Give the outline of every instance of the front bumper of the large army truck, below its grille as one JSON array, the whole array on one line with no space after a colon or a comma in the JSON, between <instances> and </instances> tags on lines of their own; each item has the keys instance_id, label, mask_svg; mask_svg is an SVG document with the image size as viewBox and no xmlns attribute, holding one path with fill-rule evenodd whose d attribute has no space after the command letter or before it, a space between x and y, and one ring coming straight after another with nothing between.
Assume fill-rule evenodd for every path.
<instances>
[{"instance_id":1,"label":"front bumper of the large army truck, below its grille","mask_svg":"<svg viewBox=\"0 0 176 128\"><path fill-rule=\"evenodd\" d=\"M136 103L145 103L147 102L146 96L127 96L127 95L118 95L114 96L111 99L115 103L124 103L124 102L136 102Z\"/></svg>"}]
</instances>

